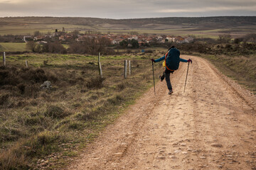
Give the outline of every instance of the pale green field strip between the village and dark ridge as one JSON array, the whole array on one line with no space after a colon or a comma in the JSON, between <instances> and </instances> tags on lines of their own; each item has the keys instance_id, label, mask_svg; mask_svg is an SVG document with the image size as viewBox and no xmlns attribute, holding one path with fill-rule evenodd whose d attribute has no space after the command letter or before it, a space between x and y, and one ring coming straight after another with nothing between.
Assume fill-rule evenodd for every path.
<instances>
[{"instance_id":1,"label":"pale green field strip between the village and dark ridge","mask_svg":"<svg viewBox=\"0 0 256 170\"><path fill-rule=\"evenodd\" d=\"M158 34L158 35L182 35L186 36L188 34L194 34L198 37L204 38L218 38L218 31L208 30L207 32L203 31L194 31L186 28L180 29L149 29L149 28L137 28L137 29L118 29L118 28L102 28L100 26L80 26L80 25L70 25L70 24L50 24L50 25L31 25L31 26L1 26L0 27L0 35L28 35L33 33L36 30L39 30L41 33L53 33L55 29L62 30L63 27L68 32L73 30L80 30L80 33L85 33L87 30L95 30L100 33L118 33L118 34L127 34L132 31L136 31L139 34L149 33L149 34ZM225 29L223 29L225 30Z\"/></svg>"}]
</instances>

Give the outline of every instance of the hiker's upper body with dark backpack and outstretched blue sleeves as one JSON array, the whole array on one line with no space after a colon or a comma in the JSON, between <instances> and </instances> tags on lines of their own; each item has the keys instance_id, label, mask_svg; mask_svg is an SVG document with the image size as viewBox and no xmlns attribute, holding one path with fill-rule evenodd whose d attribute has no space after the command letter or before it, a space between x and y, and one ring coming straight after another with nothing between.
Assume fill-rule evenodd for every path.
<instances>
[{"instance_id":1,"label":"hiker's upper body with dark backpack and outstretched blue sleeves","mask_svg":"<svg viewBox=\"0 0 256 170\"><path fill-rule=\"evenodd\" d=\"M166 55L155 60L155 62L161 62L162 60L165 60ZM179 56L180 56L179 50L176 48L171 48L171 50L169 50L169 52L168 52L168 57L166 58L166 66L169 69L176 70L176 69L178 69L179 62L188 62L188 60L184 60Z\"/></svg>"}]
</instances>

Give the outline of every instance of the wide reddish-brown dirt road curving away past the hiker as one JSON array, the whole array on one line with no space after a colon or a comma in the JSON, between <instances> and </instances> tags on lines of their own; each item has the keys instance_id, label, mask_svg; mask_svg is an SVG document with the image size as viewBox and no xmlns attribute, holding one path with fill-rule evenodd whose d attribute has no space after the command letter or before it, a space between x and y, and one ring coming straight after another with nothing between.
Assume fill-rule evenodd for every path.
<instances>
[{"instance_id":1,"label":"wide reddish-brown dirt road curving away past the hiker","mask_svg":"<svg viewBox=\"0 0 256 170\"><path fill-rule=\"evenodd\" d=\"M182 56L188 59L188 56ZM256 99L206 60L191 57L156 84L70 169L256 169Z\"/></svg>"}]
</instances>

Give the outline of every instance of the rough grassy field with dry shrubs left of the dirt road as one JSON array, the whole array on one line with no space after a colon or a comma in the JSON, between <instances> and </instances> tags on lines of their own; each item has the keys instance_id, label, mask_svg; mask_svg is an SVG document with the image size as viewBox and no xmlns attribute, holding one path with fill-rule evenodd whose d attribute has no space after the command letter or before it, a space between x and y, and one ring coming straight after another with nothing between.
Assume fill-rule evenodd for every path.
<instances>
[{"instance_id":1,"label":"rough grassy field with dry shrubs left of the dirt road","mask_svg":"<svg viewBox=\"0 0 256 170\"><path fill-rule=\"evenodd\" d=\"M57 169L78 155L146 89L151 55L9 55L0 67L0 169ZM124 60L132 75L124 79ZM28 60L28 68L25 68ZM162 72L156 65L156 75ZM51 89L41 89L43 81Z\"/></svg>"}]
</instances>

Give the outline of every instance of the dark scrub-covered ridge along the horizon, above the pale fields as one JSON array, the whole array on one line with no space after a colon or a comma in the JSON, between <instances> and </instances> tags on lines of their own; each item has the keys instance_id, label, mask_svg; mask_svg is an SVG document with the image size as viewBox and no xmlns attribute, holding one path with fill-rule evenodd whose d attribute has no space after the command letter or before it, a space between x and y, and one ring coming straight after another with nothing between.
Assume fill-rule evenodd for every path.
<instances>
[{"instance_id":1,"label":"dark scrub-covered ridge along the horizon, above the pale fields","mask_svg":"<svg viewBox=\"0 0 256 170\"><path fill-rule=\"evenodd\" d=\"M0 18L0 24L6 23L43 23L43 24L79 24L102 25L117 24L127 28L154 28L156 25L199 26L199 27L238 27L256 26L256 16L216 16L216 17L168 17L168 18L136 18L107 19L82 17L5 17Z\"/></svg>"}]
</instances>

